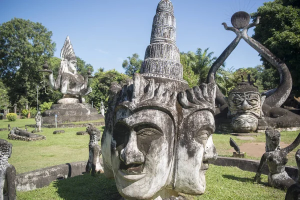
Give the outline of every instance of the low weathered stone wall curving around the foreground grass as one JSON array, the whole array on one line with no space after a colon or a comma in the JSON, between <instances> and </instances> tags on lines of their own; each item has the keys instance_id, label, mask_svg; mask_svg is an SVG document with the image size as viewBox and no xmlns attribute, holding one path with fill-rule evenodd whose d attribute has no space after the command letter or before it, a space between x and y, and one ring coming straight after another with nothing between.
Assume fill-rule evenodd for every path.
<instances>
[{"instance_id":1,"label":"low weathered stone wall curving around the foreground grass","mask_svg":"<svg viewBox=\"0 0 300 200\"><path fill-rule=\"evenodd\" d=\"M103 163L102 158L100 158L100 162L101 164ZM242 170L256 172L259 160L218 156L212 164L219 166L236 166ZM28 191L47 186L56 179L79 175L82 172L85 172L85 165L86 161L79 161L17 174L15 178L16 189L18 191ZM296 180L298 174L298 169L296 167L285 166L285 171L290 177ZM268 174L267 166L263 168L262 173Z\"/></svg>"}]
</instances>

